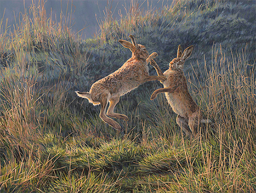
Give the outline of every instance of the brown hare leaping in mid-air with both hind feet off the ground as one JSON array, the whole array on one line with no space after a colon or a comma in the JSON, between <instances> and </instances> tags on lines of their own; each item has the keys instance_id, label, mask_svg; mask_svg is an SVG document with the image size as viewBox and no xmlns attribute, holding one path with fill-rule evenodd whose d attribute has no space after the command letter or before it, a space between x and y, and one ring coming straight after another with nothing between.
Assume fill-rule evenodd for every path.
<instances>
[{"instance_id":1,"label":"brown hare leaping in mid-air with both hind feet off the ground","mask_svg":"<svg viewBox=\"0 0 256 193\"><path fill-rule=\"evenodd\" d=\"M130 49L132 52L131 58L112 74L93 83L90 92L76 91L78 96L87 98L93 105L101 104L101 119L117 130L121 130L121 126L110 117L125 121L129 120L124 114L114 113L114 108L119 102L119 97L147 81L166 80L164 76L149 76L147 64L157 56L157 53L154 52L149 55L146 47L137 44L133 35L129 35L129 38L132 43L125 40L119 40L119 43L125 48ZM110 106L106 114L108 102L110 102Z\"/></svg>"}]
</instances>

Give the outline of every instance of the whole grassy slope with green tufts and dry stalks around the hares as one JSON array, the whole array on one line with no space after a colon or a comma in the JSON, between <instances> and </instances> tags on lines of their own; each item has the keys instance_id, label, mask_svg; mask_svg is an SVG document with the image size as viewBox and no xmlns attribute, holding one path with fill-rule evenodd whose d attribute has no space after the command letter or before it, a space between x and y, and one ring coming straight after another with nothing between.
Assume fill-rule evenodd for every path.
<instances>
[{"instance_id":1,"label":"whole grassy slope with green tufts and dry stalks around the hares","mask_svg":"<svg viewBox=\"0 0 256 193\"><path fill-rule=\"evenodd\" d=\"M85 41L33 9L11 34L1 25L0 192L256 191L255 2L134 7ZM164 96L148 100L158 83L122 97L122 133L75 97L130 57L117 43L129 34L162 69L178 44L195 45L186 76L214 135L184 139Z\"/></svg>"}]
</instances>

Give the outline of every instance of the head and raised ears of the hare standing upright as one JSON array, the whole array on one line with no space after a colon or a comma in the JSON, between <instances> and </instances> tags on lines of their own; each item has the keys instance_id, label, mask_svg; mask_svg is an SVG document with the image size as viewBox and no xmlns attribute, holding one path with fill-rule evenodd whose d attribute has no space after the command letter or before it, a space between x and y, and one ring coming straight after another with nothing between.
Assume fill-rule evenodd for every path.
<instances>
[{"instance_id":1,"label":"head and raised ears of the hare standing upright","mask_svg":"<svg viewBox=\"0 0 256 193\"><path fill-rule=\"evenodd\" d=\"M179 45L177 58L174 58L172 61L170 61L170 68L173 70L183 70L184 62L188 57L190 57L192 50L193 46L191 45L188 48L186 48L182 53L181 45Z\"/></svg>"}]
</instances>

